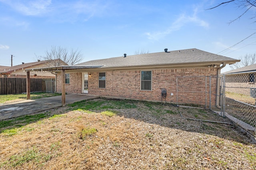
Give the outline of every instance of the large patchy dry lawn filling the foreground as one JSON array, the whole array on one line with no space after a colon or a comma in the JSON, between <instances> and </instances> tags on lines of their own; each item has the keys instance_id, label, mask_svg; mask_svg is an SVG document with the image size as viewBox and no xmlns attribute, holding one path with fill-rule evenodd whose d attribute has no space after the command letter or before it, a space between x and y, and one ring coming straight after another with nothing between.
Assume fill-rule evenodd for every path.
<instances>
[{"instance_id":1,"label":"large patchy dry lawn filling the foreground","mask_svg":"<svg viewBox=\"0 0 256 170\"><path fill-rule=\"evenodd\" d=\"M256 169L256 145L211 111L98 98L0 121L0 169Z\"/></svg>"}]
</instances>

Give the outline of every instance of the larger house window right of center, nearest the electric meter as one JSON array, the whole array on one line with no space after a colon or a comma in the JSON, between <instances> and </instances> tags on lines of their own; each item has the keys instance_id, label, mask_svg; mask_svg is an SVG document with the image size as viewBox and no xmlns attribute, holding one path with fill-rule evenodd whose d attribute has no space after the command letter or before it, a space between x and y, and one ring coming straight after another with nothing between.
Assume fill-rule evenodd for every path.
<instances>
[{"instance_id":1,"label":"larger house window right of center, nearest the electric meter","mask_svg":"<svg viewBox=\"0 0 256 170\"><path fill-rule=\"evenodd\" d=\"M152 90L152 71L140 72L140 90Z\"/></svg>"}]
</instances>

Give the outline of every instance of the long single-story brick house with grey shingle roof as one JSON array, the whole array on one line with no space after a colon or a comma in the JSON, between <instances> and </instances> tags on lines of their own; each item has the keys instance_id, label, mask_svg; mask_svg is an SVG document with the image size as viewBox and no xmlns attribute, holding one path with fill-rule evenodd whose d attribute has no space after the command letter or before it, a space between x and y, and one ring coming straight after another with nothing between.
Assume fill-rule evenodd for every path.
<instances>
[{"instance_id":1,"label":"long single-story brick house with grey shingle roof","mask_svg":"<svg viewBox=\"0 0 256 170\"><path fill-rule=\"evenodd\" d=\"M65 91L161 101L161 89L165 88L166 101L175 102L177 76L214 76L220 74L220 69L226 64L239 61L199 49L165 49L165 52L130 56L124 54L123 57L88 61L76 64L72 69L66 69ZM56 92L62 92L62 75L60 70L56 72ZM186 97L195 98L193 94L190 95Z\"/></svg>"}]
</instances>

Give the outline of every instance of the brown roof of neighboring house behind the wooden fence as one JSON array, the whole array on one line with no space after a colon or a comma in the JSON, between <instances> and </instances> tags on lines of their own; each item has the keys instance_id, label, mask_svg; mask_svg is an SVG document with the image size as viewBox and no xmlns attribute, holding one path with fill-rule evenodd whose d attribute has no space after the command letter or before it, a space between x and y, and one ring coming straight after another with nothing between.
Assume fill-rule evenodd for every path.
<instances>
[{"instance_id":1,"label":"brown roof of neighboring house behind the wooden fence","mask_svg":"<svg viewBox=\"0 0 256 170\"><path fill-rule=\"evenodd\" d=\"M57 60L57 59L56 59ZM24 64L20 64L20 65L16 65L16 66L12 66L12 67L8 67L8 68L4 68L3 70L0 70L0 73L7 73L10 74L12 73L14 70L20 70L20 69L25 69L25 68L29 68L32 66L37 66L39 64L46 64L51 62L50 60L44 60L44 61L36 61L36 62L32 62L32 63L24 63ZM60 65L64 65L66 63L64 63L64 61L60 61ZM46 66L47 67L47 66Z\"/></svg>"}]
</instances>

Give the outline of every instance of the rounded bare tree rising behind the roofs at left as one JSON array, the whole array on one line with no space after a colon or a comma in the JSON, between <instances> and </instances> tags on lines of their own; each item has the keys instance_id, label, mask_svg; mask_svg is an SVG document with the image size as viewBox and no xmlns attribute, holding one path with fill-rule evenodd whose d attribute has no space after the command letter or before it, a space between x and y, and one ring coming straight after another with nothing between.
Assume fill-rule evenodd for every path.
<instances>
[{"instance_id":1,"label":"rounded bare tree rising behind the roofs at left","mask_svg":"<svg viewBox=\"0 0 256 170\"><path fill-rule=\"evenodd\" d=\"M82 61L83 55L77 49L71 49L68 51L66 48L62 48L60 46L52 46L52 49L49 51L45 51L44 56L37 56L37 60L48 60L49 62L46 63L46 66L60 66L64 65L64 63L68 65L74 65ZM64 63L63 63L64 62Z\"/></svg>"}]
</instances>

